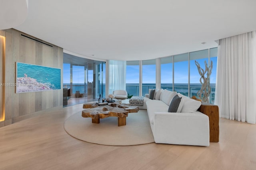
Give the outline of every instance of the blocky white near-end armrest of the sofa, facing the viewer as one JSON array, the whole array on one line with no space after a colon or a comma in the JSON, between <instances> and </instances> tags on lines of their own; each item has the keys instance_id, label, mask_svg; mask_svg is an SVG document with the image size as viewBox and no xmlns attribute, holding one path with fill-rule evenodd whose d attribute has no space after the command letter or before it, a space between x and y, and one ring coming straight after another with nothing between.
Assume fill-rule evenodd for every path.
<instances>
[{"instance_id":1,"label":"blocky white near-end armrest of the sofa, facing the viewer","mask_svg":"<svg viewBox=\"0 0 256 170\"><path fill-rule=\"evenodd\" d=\"M156 143L209 146L209 117L194 113L154 112L152 132ZM152 119L151 118L151 119Z\"/></svg>"}]
</instances>

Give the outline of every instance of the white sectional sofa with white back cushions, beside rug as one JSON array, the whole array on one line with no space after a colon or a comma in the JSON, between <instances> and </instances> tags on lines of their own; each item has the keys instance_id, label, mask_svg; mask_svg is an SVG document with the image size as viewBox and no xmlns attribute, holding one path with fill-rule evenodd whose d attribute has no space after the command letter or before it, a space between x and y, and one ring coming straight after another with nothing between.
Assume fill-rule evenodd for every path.
<instances>
[{"instance_id":1,"label":"white sectional sofa with white back cushions, beside rug","mask_svg":"<svg viewBox=\"0 0 256 170\"><path fill-rule=\"evenodd\" d=\"M160 92L160 95L159 91L158 94L155 92L153 100L144 97L147 98L146 107L155 142L209 146L209 117L197 111L201 102L178 93L178 96L182 97L178 108L178 111L181 109L180 113L171 113L168 112L169 105L177 92L169 90L160 90Z\"/></svg>"}]
</instances>

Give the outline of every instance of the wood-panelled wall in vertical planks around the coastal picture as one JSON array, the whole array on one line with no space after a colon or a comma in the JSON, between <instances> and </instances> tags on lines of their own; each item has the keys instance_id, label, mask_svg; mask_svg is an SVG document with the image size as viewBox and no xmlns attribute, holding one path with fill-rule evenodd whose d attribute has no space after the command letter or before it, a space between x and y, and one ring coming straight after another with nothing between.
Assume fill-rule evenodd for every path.
<instances>
[{"instance_id":1,"label":"wood-panelled wall in vertical planks around the coastal picture","mask_svg":"<svg viewBox=\"0 0 256 170\"><path fill-rule=\"evenodd\" d=\"M16 82L16 62L49 66L63 67L63 49L17 31L6 31L6 59L5 59L5 82ZM35 40L34 38L52 47ZM61 78L61 82L62 78ZM61 84L62 87L62 84ZM62 106L63 90L51 90L43 92L15 93L15 86L5 86L5 125L26 119L31 113L44 109Z\"/></svg>"}]
</instances>

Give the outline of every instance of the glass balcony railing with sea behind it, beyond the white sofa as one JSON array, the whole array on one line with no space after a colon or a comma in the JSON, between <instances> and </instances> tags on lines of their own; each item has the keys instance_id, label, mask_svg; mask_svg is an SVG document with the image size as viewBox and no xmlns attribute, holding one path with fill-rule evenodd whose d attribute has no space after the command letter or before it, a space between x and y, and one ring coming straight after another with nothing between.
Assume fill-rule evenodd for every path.
<instances>
[{"instance_id":1,"label":"glass balcony railing with sea behind it, beyond the white sofa","mask_svg":"<svg viewBox=\"0 0 256 170\"><path fill-rule=\"evenodd\" d=\"M149 86L149 85L142 85L142 96L148 94L149 89L155 89L156 86ZM162 89L172 91L172 86L161 86ZM197 96L198 90L200 90L201 86L190 86L190 97ZM126 91L131 96L139 96L139 85L127 85L126 84ZM174 84L174 91L183 94L184 96L188 96L188 86L175 86ZM214 104L214 97L215 97L215 86L211 86L211 94L210 94L210 103Z\"/></svg>"}]
</instances>

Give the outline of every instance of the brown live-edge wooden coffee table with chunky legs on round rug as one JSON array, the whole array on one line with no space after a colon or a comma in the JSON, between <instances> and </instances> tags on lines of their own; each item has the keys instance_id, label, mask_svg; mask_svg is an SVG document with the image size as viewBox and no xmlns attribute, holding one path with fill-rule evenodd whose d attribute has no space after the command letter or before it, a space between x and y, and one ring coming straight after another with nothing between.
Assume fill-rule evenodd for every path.
<instances>
[{"instance_id":1,"label":"brown live-edge wooden coffee table with chunky legs on round rug","mask_svg":"<svg viewBox=\"0 0 256 170\"><path fill-rule=\"evenodd\" d=\"M118 117L118 126L126 125L126 117L128 113L136 113L139 111L138 106L130 106L128 104L108 103L108 105L98 106L96 104L84 104L82 117L92 117L92 123L100 123L100 119L106 117Z\"/></svg>"}]
</instances>

